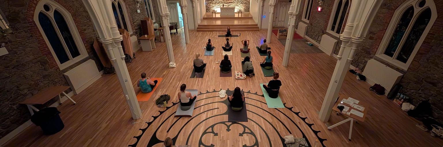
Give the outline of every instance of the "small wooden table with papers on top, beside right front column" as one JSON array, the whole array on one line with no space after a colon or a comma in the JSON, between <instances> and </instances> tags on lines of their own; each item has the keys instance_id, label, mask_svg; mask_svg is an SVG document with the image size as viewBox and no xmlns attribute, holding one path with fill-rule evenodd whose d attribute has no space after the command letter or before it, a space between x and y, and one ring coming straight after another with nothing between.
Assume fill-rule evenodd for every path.
<instances>
[{"instance_id":1,"label":"small wooden table with papers on top, beside right front column","mask_svg":"<svg viewBox=\"0 0 443 147\"><path fill-rule=\"evenodd\" d=\"M335 112L337 112L337 115L338 115L338 114L343 114L344 116L348 117L348 119L343 120L343 121L340 121L340 122L338 122L337 124L334 124L334 125L328 127L328 129L332 129L332 128L334 128L334 127L337 127L337 126L340 125L340 124L343 124L343 123L346 123L347 121L350 121L349 137L348 137L348 138L349 138L349 140L351 140L351 135L352 135L352 124L354 124L354 120L356 121L356 123L358 123L358 121L360 121L360 122L364 122L365 119L366 119L366 115L367 115L367 113L368 113L368 110L369 110L370 105L369 105L367 102L363 102L363 101L360 101L360 100L359 100L360 102L358 102L358 105L365 107L365 109L364 109L363 111L360 111L360 110L355 109L354 107L352 107L352 106L350 106L350 105L348 105L348 104L342 102L343 99L348 99L348 98L349 98L349 97L346 96L346 95L341 95L340 98L338 98L338 101L335 102L334 107L332 107L332 110L334 110ZM354 98L354 99L356 99L356 98ZM358 99L357 99L357 100L358 100ZM358 112L363 113L363 117L359 117L359 116L357 116L357 115L355 115L355 114L353 114L353 113L350 113L350 114L348 115L348 114L346 114L345 112L340 112L340 110L337 108L338 104L342 104L342 105L344 105L344 106L348 106L348 107L349 107L348 112L350 112L352 109L354 109L354 110L357 110ZM343 111L344 111L344 110L343 110Z\"/></svg>"}]
</instances>

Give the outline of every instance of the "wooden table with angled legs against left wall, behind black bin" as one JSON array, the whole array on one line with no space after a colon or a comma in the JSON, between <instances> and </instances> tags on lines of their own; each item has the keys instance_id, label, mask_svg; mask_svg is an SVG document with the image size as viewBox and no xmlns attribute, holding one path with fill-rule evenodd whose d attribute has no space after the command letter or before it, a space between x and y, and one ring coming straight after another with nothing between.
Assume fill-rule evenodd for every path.
<instances>
[{"instance_id":1,"label":"wooden table with angled legs against left wall, behind black bin","mask_svg":"<svg viewBox=\"0 0 443 147\"><path fill-rule=\"evenodd\" d=\"M61 96L60 94L63 94L66 96L66 98L69 98L74 104L76 103L68 94L65 93L65 90L70 88L69 86L54 86L54 87L48 87L43 90L40 90L39 93L33 95L31 98L28 98L24 100L23 102L19 102L19 104L24 104L28 107L29 112L31 115L34 115L34 111L39 111L39 109L35 108L33 105L43 105L44 103L48 102L52 98L56 97L58 95L58 103L62 104Z\"/></svg>"}]
</instances>

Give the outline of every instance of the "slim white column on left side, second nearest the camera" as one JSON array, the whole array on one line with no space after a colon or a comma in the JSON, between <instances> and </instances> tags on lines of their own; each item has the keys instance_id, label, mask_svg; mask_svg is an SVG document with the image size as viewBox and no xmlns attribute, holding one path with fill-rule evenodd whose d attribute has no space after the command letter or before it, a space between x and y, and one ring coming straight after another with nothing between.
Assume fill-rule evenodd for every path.
<instances>
[{"instance_id":1,"label":"slim white column on left side, second nearest the camera","mask_svg":"<svg viewBox=\"0 0 443 147\"><path fill-rule=\"evenodd\" d=\"M162 25L163 25L163 31L165 35L165 43L166 43L166 49L167 49L167 55L169 58L169 62L174 62L174 52L172 50L172 42L171 42L171 33L169 30L169 10L167 8L166 0L159 0L160 1L160 17L162 19Z\"/></svg>"}]
</instances>

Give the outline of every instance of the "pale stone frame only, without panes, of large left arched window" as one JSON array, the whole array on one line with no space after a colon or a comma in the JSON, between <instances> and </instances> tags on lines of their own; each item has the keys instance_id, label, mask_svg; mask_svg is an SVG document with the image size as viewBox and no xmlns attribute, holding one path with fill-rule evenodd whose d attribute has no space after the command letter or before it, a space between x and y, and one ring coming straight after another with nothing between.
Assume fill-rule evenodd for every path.
<instances>
[{"instance_id":1,"label":"pale stone frame only, without panes, of large left arched window","mask_svg":"<svg viewBox=\"0 0 443 147\"><path fill-rule=\"evenodd\" d=\"M44 10L43 5L45 5L45 4L51 8L50 11ZM66 24L69 27L72 38L74 38L75 44L77 45L78 52L80 53L80 55L78 57L75 57L75 58L70 57L69 49L66 46L66 44L64 43L64 41L62 39L62 35L60 34L60 30L58 30L57 24L54 21L54 15L53 15L54 10L57 10L58 12L60 12L60 14L62 14L63 17L65 18ZM66 54L68 54L68 57L70 59L69 61L66 61L63 64L60 64L60 61L58 60L57 55L54 52L54 49L52 48L51 44L49 43L49 39L47 38L45 32L43 31L42 26L40 26L40 22L39 22L39 13L40 12L44 13L45 15L48 16L49 19L51 19L51 22L54 25L54 29L56 30L56 33L58 34L58 38L60 38L60 40L62 41L63 48L65 49ZM58 4L57 2L55 2L53 0L40 0L39 3L35 7L34 22L36 23L37 28L39 29L40 33L42 34L42 37L45 40L46 45L48 46L49 50L51 51L51 54L54 57L55 61L57 62L58 68L60 68L60 70L63 70L65 68L85 59L86 57L88 57L88 53L86 52L86 48L85 48L85 45L83 44L82 37L80 36L80 33L78 33L77 26L74 23L74 19L72 18L71 13L69 11L67 11L62 5Z\"/></svg>"}]
</instances>

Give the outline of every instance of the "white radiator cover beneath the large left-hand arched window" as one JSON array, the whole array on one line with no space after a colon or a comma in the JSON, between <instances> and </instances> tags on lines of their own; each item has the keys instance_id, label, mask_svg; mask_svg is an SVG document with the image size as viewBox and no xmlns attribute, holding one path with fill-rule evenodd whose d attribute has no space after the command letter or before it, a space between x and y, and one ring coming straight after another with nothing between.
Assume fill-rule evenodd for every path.
<instances>
[{"instance_id":1,"label":"white radiator cover beneath the large left-hand arched window","mask_svg":"<svg viewBox=\"0 0 443 147\"><path fill-rule=\"evenodd\" d=\"M74 91L79 94L101 77L94 60L87 60L70 71L64 73L66 80Z\"/></svg>"}]
</instances>

